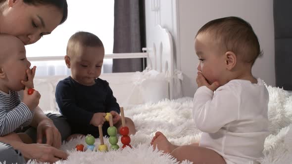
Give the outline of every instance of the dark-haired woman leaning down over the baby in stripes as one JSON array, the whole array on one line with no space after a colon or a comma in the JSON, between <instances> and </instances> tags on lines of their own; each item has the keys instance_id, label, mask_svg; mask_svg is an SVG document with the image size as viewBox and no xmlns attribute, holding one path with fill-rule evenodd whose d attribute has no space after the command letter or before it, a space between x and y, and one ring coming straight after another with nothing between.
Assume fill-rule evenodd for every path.
<instances>
[{"instance_id":1,"label":"dark-haired woman leaning down over the baby in stripes","mask_svg":"<svg viewBox=\"0 0 292 164\"><path fill-rule=\"evenodd\" d=\"M62 24L67 19L67 12L66 0L0 0L0 33L13 35L24 44L32 44ZM66 159L68 155L56 148L61 145L61 137L69 135L70 128L61 118L49 117L54 122L37 107L31 123L37 129L37 137L31 137L37 138L38 143L46 137L47 144L24 144L0 137L0 162L25 163L26 158L53 163ZM61 136L56 126L62 128L60 131L67 131L67 136Z\"/></svg>"}]
</instances>

